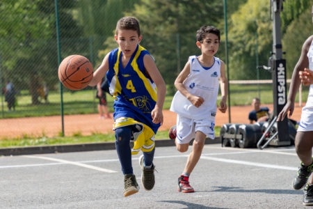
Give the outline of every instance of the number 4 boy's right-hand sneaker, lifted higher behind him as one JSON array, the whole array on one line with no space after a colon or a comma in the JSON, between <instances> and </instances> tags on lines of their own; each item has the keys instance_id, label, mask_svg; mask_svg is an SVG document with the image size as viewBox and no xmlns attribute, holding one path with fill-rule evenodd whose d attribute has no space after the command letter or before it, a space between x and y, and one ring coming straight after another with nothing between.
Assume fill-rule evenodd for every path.
<instances>
[{"instance_id":1,"label":"number 4 boy's right-hand sneaker, lifted higher behind him","mask_svg":"<svg viewBox=\"0 0 313 209\"><path fill-rule=\"evenodd\" d=\"M139 164L143 172L141 173L141 185L145 190L151 190L154 187L154 164L152 163L151 169L147 169L143 166L143 155L139 157Z\"/></svg>"}]
</instances>

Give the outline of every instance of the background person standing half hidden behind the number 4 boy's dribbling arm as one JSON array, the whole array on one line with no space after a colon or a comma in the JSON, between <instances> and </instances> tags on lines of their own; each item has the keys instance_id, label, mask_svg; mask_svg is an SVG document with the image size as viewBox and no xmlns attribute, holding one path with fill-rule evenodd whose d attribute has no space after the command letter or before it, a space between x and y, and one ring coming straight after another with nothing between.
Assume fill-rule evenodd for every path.
<instances>
[{"instance_id":1,"label":"background person standing half hidden behind the number 4 boy's dribbling arm","mask_svg":"<svg viewBox=\"0 0 313 209\"><path fill-rule=\"evenodd\" d=\"M106 105L106 91L102 89L102 86L106 82L106 78L102 78L102 80L97 83L97 95L96 97L99 99L98 111L100 114L100 118L111 118L109 114L108 107Z\"/></svg>"}]
</instances>

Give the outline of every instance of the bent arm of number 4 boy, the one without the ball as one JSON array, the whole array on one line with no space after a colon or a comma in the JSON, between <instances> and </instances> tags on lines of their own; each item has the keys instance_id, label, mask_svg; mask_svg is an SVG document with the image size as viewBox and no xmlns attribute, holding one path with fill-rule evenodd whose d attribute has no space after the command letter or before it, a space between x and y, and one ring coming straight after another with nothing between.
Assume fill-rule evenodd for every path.
<instances>
[{"instance_id":1,"label":"bent arm of number 4 boy, the one without the ball","mask_svg":"<svg viewBox=\"0 0 313 209\"><path fill-rule=\"evenodd\" d=\"M157 65L155 65L154 60L150 55L145 55L143 57L143 63L145 65L145 70L153 80L154 84L157 85L157 103L155 104L154 109L151 111L152 122L163 124L163 104L166 96L166 84L164 82L161 73L159 72Z\"/></svg>"}]
</instances>

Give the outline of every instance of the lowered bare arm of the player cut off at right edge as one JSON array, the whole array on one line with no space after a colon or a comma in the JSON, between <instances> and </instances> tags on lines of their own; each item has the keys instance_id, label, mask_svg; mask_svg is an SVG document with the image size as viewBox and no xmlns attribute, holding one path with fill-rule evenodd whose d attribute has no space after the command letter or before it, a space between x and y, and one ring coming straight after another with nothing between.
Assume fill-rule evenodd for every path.
<instances>
[{"instance_id":1,"label":"lowered bare arm of the player cut off at right edge","mask_svg":"<svg viewBox=\"0 0 313 209\"><path fill-rule=\"evenodd\" d=\"M282 111L280 111L280 114L278 114L277 121L284 120L284 117L287 115L288 111L289 111L289 117L294 112L294 100L296 98L296 93L300 86L299 72L307 68L307 66L309 65L309 59L307 59L307 52L310 49L312 40L313 40L313 36L310 36L303 43L300 58L298 62L296 63L296 66L294 67L294 72L292 72L287 104L284 105L284 108L282 109Z\"/></svg>"}]
</instances>

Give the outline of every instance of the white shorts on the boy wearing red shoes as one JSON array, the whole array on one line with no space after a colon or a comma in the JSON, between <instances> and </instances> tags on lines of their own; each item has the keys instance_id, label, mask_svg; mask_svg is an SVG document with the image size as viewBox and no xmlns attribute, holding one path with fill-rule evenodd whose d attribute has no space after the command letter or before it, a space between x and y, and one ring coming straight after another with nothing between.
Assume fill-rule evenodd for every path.
<instances>
[{"instance_id":1,"label":"white shorts on the boy wearing red shoes","mask_svg":"<svg viewBox=\"0 0 313 209\"><path fill-rule=\"evenodd\" d=\"M191 119L177 114L176 139L178 144L188 144L195 139L195 132L202 132L210 139L215 138L214 133L215 117L208 116L204 119Z\"/></svg>"}]
</instances>

